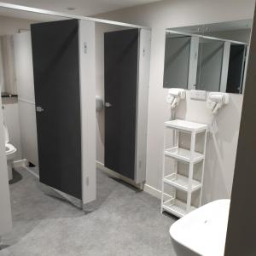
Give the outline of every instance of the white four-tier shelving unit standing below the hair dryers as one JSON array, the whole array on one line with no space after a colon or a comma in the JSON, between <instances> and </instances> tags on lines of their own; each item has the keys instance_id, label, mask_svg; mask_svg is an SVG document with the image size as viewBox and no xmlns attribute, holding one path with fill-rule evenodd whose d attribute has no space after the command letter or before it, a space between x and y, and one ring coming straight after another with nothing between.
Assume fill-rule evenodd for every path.
<instances>
[{"instance_id":1,"label":"white four-tier shelving unit standing below the hair dryers","mask_svg":"<svg viewBox=\"0 0 256 256\"><path fill-rule=\"evenodd\" d=\"M161 197L161 212L170 212L177 217L183 217L185 214L195 210L195 207L191 205L192 193L200 189L199 206L201 206L201 193L204 177L205 166L205 153L207 145L207 125L189 122L185 120L172 120L165 123L166 129L172 129L174 131L174 147L166 148L166 136L165 136L165 150L163 161L163 179L162 179L162 197ZM189 133L191 136L190 150L187 148L181 148L179 143L180 133ZM202 153L195 151L195 139L198 133L204 133L204 145ZM166 157L171 157L176 160L176 164L173 167L171 174L166 174ZM186 162L189 165L188 176L183 176L178 173L177 161ZM201 180L194 179L194 166L196 163L201 162ZM165 191L166 186L171 186L172 195L169 195ZM187 193L187 201L180 201L176 198L176 189Z\"/></svg>"}]
</instances>

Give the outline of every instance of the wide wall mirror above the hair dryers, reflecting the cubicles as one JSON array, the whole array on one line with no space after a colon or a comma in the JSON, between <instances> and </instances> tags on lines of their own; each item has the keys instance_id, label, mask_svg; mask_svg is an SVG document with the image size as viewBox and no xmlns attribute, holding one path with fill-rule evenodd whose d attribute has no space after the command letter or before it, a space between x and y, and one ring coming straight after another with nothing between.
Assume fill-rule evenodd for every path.
<instances>
[{"instance_id":1,"label":"wide wall mirror above the hair dryers, reflecting the cubicles","mask_svg":"<svg viewBox=\"0 0 256 256\"><path fill-rule=\"evenodd\" d=\"M164 88L241 94L253 20L166 29Z\"/></svg>"}]
</instances>

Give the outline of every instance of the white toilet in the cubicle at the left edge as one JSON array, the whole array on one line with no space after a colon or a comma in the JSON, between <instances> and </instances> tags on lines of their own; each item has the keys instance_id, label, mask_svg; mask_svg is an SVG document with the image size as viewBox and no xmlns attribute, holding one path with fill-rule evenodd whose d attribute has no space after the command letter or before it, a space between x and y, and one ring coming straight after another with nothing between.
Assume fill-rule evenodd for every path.
<instances>
[{"instance_id":1,"label":"white toilet in the cubicle at the left edge","mask_svg":"<svg viewBox=\"0 0 256 256\"><path fill-rule=\"evenodd\" d=\"M13 178L12 167L13 167L13 162L15 159L15 153L17 149L14 147L14 145L9 143L9 131L5 124L3 124L3 129L4 129L5 155L7 159L8 176L9 176L9 180L11 180Z\"/></svg>"}]
</instances>

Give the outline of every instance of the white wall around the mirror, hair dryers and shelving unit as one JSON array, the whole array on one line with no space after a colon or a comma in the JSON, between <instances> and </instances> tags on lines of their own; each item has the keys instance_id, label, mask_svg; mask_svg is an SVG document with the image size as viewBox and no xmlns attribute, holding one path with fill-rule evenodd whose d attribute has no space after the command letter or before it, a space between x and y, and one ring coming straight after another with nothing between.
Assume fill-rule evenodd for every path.
<instances>
[{"instance_id":1,"label":"white wall around the mirror, hair dryers and shelving unit","mask_svg":"<svg viewBox=\"0 0 256 256\"><path fill-rule=\"evenodd\" d=\"M152 27L148 106L147 184L161 188L163 123L170 113L163 89L166 28L253 18L254 0L172 0L123 9L98 17ZM219 132L208 137L203 201L230 197L236 160L242 96L230 95L230 105L218 115ZM177 109L177 118L210 123L206 102L187 97Z\"/></svg>"}]
</instances>

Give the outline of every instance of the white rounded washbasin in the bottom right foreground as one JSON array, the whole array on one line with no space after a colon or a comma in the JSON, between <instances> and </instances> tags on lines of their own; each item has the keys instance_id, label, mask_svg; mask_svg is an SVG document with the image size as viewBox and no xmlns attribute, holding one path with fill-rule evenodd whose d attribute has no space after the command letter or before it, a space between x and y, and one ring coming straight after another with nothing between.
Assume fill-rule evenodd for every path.
<instances>
[{"instance_id":1,"label":"white rounded washbasin in the bottom right foreground","mask_svg":"<svg viewBox=\"0 0 256 256\"><path fill-rule=\"evenodd\" d=\"M172 224L177 256L224 256L229 212L230 200L212 201Z\"/></svg>"}]
</instances>

